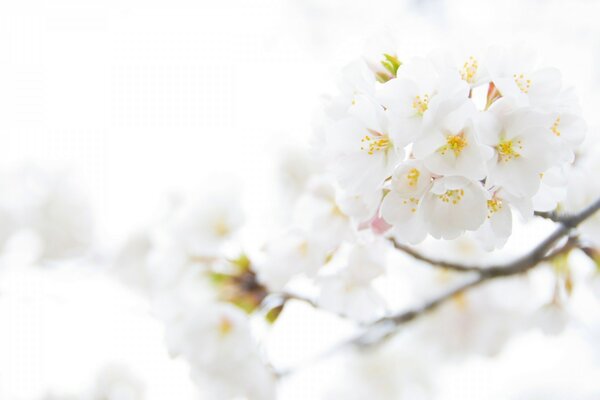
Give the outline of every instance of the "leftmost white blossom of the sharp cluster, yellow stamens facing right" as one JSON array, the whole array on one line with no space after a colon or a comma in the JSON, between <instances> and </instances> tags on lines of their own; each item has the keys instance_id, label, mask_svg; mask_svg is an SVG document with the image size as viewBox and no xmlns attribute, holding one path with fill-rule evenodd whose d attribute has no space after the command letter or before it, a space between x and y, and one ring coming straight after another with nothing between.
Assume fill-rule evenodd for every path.
<instances>
[{"instance_id":1,"label":"leftmost white blossom of the sharp cluster, yellow stamens facing right","mask_svg":"<svg viewBox=\"0 0 600 400\"><path fill-rule=\"evenodd\" d=\"M348 193L376 191L402 159L403 150L389 137L380 105L356 96L348 113L327 129L332 171Z\"/></svg>"}]
</instances>

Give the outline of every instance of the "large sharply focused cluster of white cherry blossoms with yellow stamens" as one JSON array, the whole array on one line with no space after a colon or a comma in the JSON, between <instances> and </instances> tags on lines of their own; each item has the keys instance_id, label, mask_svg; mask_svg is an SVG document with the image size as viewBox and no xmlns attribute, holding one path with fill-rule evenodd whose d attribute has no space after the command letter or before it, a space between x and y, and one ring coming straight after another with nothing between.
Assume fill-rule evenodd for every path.
<instances>
[{"instance_id":1,"label":"large sharply focused cluster of white cherry blossoms with yellow stamens","mask_svg":"<svg viewBox=\"0 0 600 400\"><path fill-rule=\"evenodd\" d=\"M494 249L513 208L527 218L556 207L586 129L556 69L520 48L379 54L343 70L317 134L343 193L378 199L368 219L411 244L471 231Z\"/></svg>"}]
</instances>

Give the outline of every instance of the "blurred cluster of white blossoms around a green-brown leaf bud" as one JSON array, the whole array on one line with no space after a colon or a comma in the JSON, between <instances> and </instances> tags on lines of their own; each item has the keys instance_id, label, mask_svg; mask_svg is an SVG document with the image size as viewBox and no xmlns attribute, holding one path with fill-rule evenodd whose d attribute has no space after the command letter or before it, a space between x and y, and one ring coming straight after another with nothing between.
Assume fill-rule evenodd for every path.
<instances>
[{"instance_id":1,"label":"blurred cluster of white blossoms around a green-brown leaf bud","mask_svg":"<svg viewBox=\"0 0 600 400\"><path fill-rule=\"evenodd\" d=\"M271 399L274 376L252 332L267 292L232 243L243 221L238 199L213 188L177 201L124 246L118 272L149 296L170 354L189 363L203 395Z\"/></svg>"}]
</instances>

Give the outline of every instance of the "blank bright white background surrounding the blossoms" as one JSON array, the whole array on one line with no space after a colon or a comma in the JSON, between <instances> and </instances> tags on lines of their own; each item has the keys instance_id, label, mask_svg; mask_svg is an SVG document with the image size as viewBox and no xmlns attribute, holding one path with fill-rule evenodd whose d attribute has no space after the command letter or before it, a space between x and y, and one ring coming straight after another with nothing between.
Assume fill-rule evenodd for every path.
<instances>
[{"instance_id":1,"label":"blank bright white background surrounding the blossoms","mask_svg":"<svg viewBox=\"0 0 600 400\"><path fill-rule=\"evenodd\" d=\"M247 208L268 217L277 161L308 142L335 71L385 28L407 55L528 42L578 87L597 134L598 15L599 2L584 0L2 2L0 168L71 170L106 249L152 221L166 194L215 177L236 177ZM71 266L8 274L2 287L0 398L76 391L110 362L142 376L149 398L191 398L186 367L168 360L160 326L121 286ZM593 373L571 339L525 347ZM457 367L472 371L456 372L448 398L484 398L494 384L501 393L510 366L531 356L516 346L522 356L509 353L500 378Z\"/></svg>"}]
</instances>

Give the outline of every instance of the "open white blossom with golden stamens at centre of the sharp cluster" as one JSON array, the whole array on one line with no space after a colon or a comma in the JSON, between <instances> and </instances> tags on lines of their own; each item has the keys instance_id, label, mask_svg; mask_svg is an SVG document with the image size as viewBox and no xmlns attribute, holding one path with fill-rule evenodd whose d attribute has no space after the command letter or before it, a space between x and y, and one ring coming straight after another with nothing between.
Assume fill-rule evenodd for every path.
<instances>
[{"instance_id":1,"label":"open white blossom with golden stamens at centre of the sharp cluster","mask_svg":"<svg viewBox=\"0 0 600 400\"><path fill-rule=\"evenodd\" d=\"M465 102L447 114L431 132L423 134L422 140L415 143L414 155L423 158L425 166L435 174L483 179L486 176L485 162L492 152L477 139L473 125L475 113L473 103Z\"/></svg>"}]
</instances>

